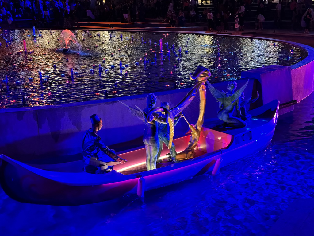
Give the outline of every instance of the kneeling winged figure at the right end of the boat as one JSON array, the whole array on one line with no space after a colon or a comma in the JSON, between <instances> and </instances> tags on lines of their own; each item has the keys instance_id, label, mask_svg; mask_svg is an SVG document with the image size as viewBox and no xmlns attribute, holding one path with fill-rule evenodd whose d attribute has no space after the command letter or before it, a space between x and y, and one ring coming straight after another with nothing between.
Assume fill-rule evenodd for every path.
<instances>
[{"instance_id":1,"label":"kneeling winged figure at the right end of the boat","mask_svg":"<svg viewBox=\"0 0 314 236\"><path fill-rule=\"evenodd\" d=\"M246 126L246 122L242 121L238 117L234 117L233 111L236 106L236 110L238 113L238 116L240 116L240 105L239 105L239 100L242 92L246 88L247 84L249 83L249 80L236 92L234 92L236 88L236 81L230 81L228 83L228 92L223 93L220 92L218 89L214 88L208 81L208 89L210 93L216 98L219 102L220 105L219 107L221 110L218 112L218 119L224 121L226 124L224 126L230 126L230 127L235 127L235 128L243 128Z\"/></svg>"}]
</instances>

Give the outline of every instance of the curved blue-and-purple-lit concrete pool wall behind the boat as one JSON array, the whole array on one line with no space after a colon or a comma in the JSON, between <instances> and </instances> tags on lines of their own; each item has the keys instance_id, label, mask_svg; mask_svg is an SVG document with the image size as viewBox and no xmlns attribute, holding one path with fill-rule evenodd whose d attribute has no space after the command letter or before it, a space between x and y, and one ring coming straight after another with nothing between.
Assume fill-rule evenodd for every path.
<instances>
[{"instance_id":1,"label":"curved blue-and-purple-lit concrete pool wall behind the boat","mask_svg":"<svg viewBox=\"0 0 314 236\"><path fill-rule=\"evenodd\" d=\"M302 44L293 44L308 51L306 59L290 67L266 66L242 72L242 79L237 80L237 88L250 78L245 90L246 98L254 98L258 91L260 98L256 104L259 105L273 99L279 99L281 103L292 99L299 102L314 91L314 49ZM214 87L219 91L226 91L227 82L215 83ZM157 105L168 101L173 107L188 91L190 88L155 93L158 98ZM78 154L81 152L83 133L90 128L89 116L92 114L103 119L104 126L99 135L110 148L123 150L143 145L143 122L132 116L127 107L117 100L143 109L146 106L146 96L147 94L141 94L73 104L2 109L0 153L17 160ZM256 104L251 104L252 108ZM194 106L194 109L197 110L197 106ZM218 103L207 90L205 119L217 117L217 111ZM176 126L175 135L180 136L187 131L188 126L182 120Z\"/></svg>"}]
</instances>

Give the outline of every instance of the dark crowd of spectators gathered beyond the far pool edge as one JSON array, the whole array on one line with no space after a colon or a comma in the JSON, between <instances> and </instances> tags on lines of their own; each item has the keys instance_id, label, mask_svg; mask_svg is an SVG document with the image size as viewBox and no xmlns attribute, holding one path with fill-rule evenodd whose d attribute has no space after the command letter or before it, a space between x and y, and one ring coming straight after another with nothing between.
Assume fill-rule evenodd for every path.
<instances>
[{"instance_id":1,"label":"dark crowd of spectators gathered beyond the far pool edge","mask_svg":"<svg viewBox=\"0 0 314 236\"><path fill-rule=\"evenodd\" d=\"M257 1L256 15L251 14L252 1ZM203 0L0 0L0 27L9 26L18 19L31 19L36 27L69 28L79 26L78 22L82 20L137 23L156 18L171 27L182 27L185 22L208 22L208 31L219 28L227 31L230 25L231 29L241 31L249 17L255 17L256 29L263 29L267 11L271 12L278 27L287 15L291 18L292 29L302 26L308 32L314 27L312 0L280 0L275 12L271 8L273 0L205 1L208 3L211 8L200 11L199 6L204 7Z\"/></svg>"}]
</instances>

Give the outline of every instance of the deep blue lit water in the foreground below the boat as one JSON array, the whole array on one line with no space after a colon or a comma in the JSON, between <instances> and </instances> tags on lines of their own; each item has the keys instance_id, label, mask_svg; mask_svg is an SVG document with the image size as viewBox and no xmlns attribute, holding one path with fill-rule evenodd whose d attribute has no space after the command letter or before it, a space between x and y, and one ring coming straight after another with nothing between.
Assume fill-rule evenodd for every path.
<instances>
[{"instance_id":1,"label":"deep blue lit water in the foreground below the boat","mask_svg":"<svg viewBox=\"0 0 314 236\"><path fill-rule=\"evenodd\" d=\"M314 94L279 116L264 151L133 197L82 206L23 204L0 191L1 235L264 235L288 205L314 197Z\"/></svg>"}]
</instances>

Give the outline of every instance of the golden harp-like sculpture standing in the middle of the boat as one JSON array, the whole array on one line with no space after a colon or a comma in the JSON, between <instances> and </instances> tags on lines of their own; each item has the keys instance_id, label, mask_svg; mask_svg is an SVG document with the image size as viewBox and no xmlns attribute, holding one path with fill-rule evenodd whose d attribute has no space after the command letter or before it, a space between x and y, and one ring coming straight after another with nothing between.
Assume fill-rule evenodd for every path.
<instances>
[{"instance_id":1,"label":"golden harp-like sculpture standing in the middle of the boat","mask_svg":"<svg viewBox=\"0 0 314 236\"><path fill-rule=\"evenodd\" d=\"M169 110L165 109L165 107L155 107L149 110L147 114L148 122L152 121L166 121L169 125L170 130L170 137L169 137L169 146L168 149L171 149L172 140L174 137L174 119L175 117L179 116L180 113L192 102L195 98L196 94L199 93L200 96L200 110L198 121L193 126L191 125L186 118L184 119L187 121L189 127L192 130L192 134L190 137L190 141L188 147L181 153L177 154L178 160L189 159L192 158L194 155L194 149L197 145L197 142L200 137L200 132L204 122L204 113L205 113L205 105L206 105L206 86L205 83L207 78L211 76L209 70L206 67L198 66L197 70L194 72L193 75L190 74L191 80L196 80L194 87L191 91L182 99L182 101L176 105L174 108ZM166 115L166 116L165 116Z\"/></svg>"}]
</instances>

